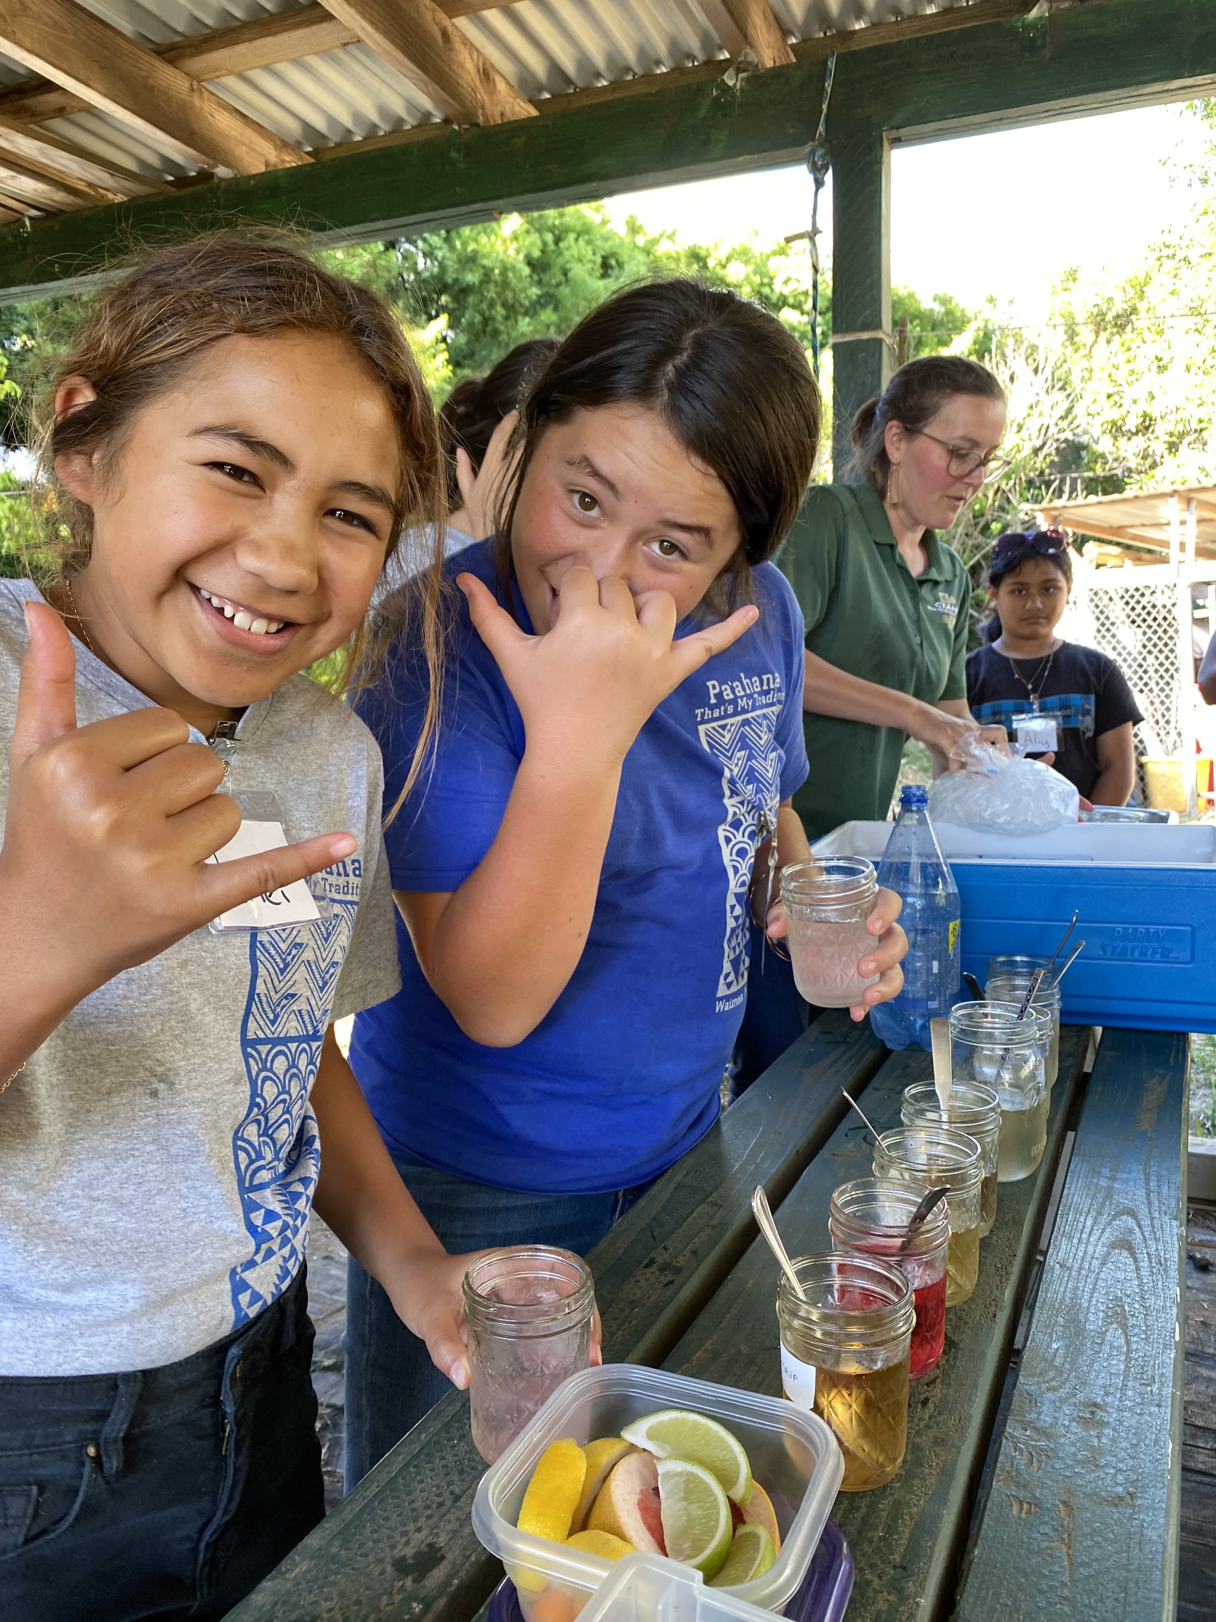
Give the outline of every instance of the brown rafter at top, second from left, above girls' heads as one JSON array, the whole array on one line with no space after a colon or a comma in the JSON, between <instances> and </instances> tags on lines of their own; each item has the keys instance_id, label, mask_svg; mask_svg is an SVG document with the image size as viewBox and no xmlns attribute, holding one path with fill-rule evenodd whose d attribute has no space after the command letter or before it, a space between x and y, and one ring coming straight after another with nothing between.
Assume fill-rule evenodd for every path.
<instances>
[{"instance_id":1,"label":"brown rafter at top, second from left, above girls' heads","mask_svg":"<svg viewBox=\"0 0 1216 1622\"><path fill-rule=\"evenodd\" d=\"M537 109L435 0L324 0L340 23L435 102L452 123L507 123Z\"/></svg>"}]
</instances>

